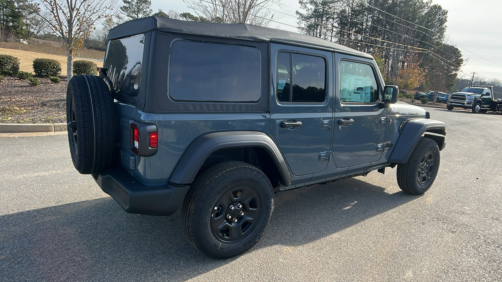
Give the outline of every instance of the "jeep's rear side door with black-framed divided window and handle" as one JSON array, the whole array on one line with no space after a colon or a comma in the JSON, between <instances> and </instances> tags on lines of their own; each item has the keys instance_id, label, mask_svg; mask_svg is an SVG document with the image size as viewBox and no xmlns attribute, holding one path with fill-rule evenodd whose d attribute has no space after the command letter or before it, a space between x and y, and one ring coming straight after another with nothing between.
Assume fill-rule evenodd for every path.
<instances>
[{"instance_id":1,"label":"jeep's rear side door with black-framed divided window and handle","mask_svg":"<svg viewBox=\"0 0 502 282\"><path fill-rule=\"evenodd\" d=\"M270 131L296 176L322 172L333 124L332 53L272 44Z\"/></svg>"}]
</instances>

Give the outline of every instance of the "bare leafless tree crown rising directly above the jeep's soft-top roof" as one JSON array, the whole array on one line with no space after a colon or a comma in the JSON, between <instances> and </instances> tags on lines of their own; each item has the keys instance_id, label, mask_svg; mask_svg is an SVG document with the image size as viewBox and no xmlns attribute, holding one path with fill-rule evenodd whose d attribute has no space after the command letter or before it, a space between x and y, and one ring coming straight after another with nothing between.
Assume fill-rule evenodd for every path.
<instances>
[{"instance_id":1,"label":"bare leafless tree crown rising directly above the jeep's soft-top roof","mask_svg":"<svg viewBox=\"0 0 502 282\"><path fill-rule=\"evenodd\" d=\"M268 26L274 15L273 4L280 0L186 0L201 22L245 23Z\"/></svg>"}]
</instances>

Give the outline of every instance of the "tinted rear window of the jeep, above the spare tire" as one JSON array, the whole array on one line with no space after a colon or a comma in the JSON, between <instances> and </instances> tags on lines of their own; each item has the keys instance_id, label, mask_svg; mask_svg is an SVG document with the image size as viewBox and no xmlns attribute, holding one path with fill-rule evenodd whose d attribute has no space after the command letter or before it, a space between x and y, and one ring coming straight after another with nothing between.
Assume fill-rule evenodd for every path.
<instances>
[{"instance_id":1,"label":"tinted rear window of the jeep, above the spare tire","mask_svg":"<svg viewBox=\"0 0 502 282\"><path fill-rule=\"evenodd\" d=\"M108 42L104 67L108 69L108 76L117 93L138 95L144 46L143 34Z\"/></svg>"}]
</instances>

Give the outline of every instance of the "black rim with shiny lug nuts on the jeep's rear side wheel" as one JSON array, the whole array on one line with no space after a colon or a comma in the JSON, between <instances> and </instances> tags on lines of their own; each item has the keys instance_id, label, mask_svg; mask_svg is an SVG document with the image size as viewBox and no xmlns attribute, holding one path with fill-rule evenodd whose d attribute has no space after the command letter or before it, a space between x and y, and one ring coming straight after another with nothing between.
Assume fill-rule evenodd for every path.
<instances>
[{"instance_id":1,"label":"black rim with shiny lug nuts on the jeep's rear side wheel","mask_svg":"<svg viewBox=\"0 0 502 282\"><path fill-rule=\"evenodd\" d=\"M261 212L262 201L258 192L250 186L236 186L225 192L214 205L211 228L221 241L237 242L253 231Z\"/></svg>"}]
</instances>

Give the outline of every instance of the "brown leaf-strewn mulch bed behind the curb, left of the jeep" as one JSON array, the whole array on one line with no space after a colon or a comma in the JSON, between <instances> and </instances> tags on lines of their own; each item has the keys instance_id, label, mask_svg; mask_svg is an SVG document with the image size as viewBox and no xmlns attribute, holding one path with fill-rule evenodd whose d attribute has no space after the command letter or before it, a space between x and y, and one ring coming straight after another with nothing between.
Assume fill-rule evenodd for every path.
<instances>
[{"instance_id":1,"label":"brown leaf-strewn mulch bed behind the curb, left of the jeep","mask_svg":"<svg viewBox=\"0 0 502 282\"><path fill-rule=\"evenodd\" d=\"M66 77L54 83L40 78L40 85L7 77L0 82L0 123L66 122Z\"/></svg>"}]
</instances>

